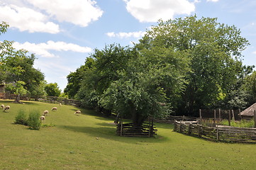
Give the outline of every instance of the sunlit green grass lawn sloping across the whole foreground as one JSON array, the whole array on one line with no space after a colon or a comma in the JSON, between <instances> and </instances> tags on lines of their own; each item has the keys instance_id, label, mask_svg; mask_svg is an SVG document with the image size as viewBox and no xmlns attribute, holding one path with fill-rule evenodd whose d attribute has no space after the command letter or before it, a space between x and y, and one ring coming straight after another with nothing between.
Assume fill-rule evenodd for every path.
<instances>
[{"instance_id":1,"label":"sunlit green grass lawn sloping across the whole foreground","mask_svg":"<svg viewBox=\"0 0 256 170\"><path fill-rule=\"evenodd\" d=\"M11 106L9 113L0 111L0 169L256 169L256 145L209 142L160 123L156 137L119 137L113 119L94 111L77 116L73 106L0 104ZM45 124L55 126L14 125L21 108L50 111Z\"/></svg>"}]
</instances>

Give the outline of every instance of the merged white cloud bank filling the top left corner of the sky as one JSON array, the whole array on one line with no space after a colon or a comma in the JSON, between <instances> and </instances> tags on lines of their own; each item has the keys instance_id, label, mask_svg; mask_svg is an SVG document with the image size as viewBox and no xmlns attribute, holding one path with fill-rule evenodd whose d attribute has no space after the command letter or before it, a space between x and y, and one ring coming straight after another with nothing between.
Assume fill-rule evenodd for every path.
<instances>
[{"instance_id":1,"label":"merged white cloud bank filling the top left corner of the sky","mask_svg":"<svg viewBox=\"0 0 256 170\"><path fill-rule=\"evenodd\" d=\"M93 0L0 0L1 20L30 33L59 33L57 22L86 27L102 13Z\"/></svg>"}]
</instances>

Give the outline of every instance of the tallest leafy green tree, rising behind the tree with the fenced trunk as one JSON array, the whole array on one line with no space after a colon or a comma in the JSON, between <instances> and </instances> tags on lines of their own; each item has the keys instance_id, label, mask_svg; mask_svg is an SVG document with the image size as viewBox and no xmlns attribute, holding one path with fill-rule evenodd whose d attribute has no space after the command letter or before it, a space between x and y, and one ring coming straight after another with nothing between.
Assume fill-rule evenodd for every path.
<instances>
[{"instance_id":1,"label":"tallest leafy green tree, rising behind the tree with the fenced trunk","mask_svg":"<svg viewBox=\"0 0 256 170\"><path fill-rule=\"evenodd\" d=\"M148 30L139 47L172 47L189 54L189 84L177 110L193 114L199 108L215 107L229 94L243 70L241 52L246 45L235 26L218 23L217 18L189 16L160 21Z\"/></svg>"}]
</instances>

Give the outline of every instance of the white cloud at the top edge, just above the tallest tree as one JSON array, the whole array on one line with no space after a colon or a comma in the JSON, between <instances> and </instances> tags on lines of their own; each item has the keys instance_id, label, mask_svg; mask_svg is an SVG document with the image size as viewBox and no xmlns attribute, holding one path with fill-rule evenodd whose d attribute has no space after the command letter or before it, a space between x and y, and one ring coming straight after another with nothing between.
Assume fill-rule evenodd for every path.
<instances>
[{"instance_id":1,"label":"white cloud at the top edge, just above the tallest tree","mask_svg":"<svg viewBox=\"0 0 256 170\"><path fill-rule=\"evenodd\" d=\"M175 14L190 14L194 3L188 0L124 0L126 9L140 22L156 22L174 18Z\"/></svg>"}]
</instances>

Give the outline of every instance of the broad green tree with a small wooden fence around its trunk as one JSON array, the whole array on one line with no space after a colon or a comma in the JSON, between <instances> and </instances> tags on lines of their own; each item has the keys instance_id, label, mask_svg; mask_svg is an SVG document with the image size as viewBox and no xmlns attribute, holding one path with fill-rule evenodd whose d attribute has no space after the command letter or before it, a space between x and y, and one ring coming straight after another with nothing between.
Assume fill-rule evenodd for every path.
<instances>
[{"instance_id":1,"label":"broad green tree with a small wooden fence around its trunk","mask_svg":"<svg viewBox=\"0 0 256 170\"><path fill-rule=\"evenodd\" d=\"M149 116L169 113L172 99L184 88L187 52L157 46L150 50L108 45L95 50L94 67L84 74L79 98L87 106L132 118L134 126Z\"/></svg>"}]
</instances>

